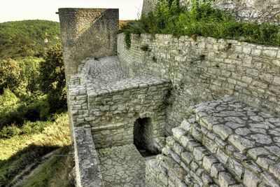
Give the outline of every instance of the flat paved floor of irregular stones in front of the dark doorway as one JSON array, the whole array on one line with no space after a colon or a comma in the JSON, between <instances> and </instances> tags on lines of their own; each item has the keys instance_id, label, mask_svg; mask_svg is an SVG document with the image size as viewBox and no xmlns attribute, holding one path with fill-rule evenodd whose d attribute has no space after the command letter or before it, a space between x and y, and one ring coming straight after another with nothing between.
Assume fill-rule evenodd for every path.
<instances>
[{"instance_id":1,"label":"flat paved floor of irregular stones in front of the dark doorway","mask_svg":"<svg viewBox=\"0 0 280 187\"><path fill-rule=\"evenodd\" d=\"M145 158L133 144L97 151L106 187L145 186Z\"/></svg>"}]
</instances>

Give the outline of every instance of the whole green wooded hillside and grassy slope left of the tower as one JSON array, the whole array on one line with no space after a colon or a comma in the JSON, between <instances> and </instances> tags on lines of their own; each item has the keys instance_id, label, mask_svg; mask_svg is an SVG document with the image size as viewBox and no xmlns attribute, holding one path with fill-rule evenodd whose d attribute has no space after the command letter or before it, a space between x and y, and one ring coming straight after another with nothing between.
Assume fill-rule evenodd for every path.
<instances>
[{"instance_id":1,"label":"whole green wooded hillside and grassy slope left of the tower","mask_svg":"<svg viewBox=\"0 0 280 187\"><path fill-rule=\"evenodd\" d=\"M72 186L68 121L59 23L0 23L0 186Z\"/></svg>"}]
</instances>

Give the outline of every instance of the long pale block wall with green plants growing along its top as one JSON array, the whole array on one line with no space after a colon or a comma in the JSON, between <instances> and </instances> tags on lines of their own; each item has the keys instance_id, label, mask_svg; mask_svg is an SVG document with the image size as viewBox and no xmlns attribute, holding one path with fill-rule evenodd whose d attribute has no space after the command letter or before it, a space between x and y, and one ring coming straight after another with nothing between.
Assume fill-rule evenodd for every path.
<instances>
[{"instance_id":1,"label":"long pale block wall with green plants growing along its top","mask_svg":"<svg viewBox=\"0 0 280 187\"><path fill-rule=\"evenodd\" d=\"M148 48L144 51L141 48ZM172 82L167 132L190 116L189 106L232 96L280 114L280 48L213 38L164 34L118 35L118 57L130 76L152 74Z\"/></svg>"}]
</instances>

